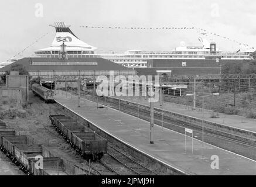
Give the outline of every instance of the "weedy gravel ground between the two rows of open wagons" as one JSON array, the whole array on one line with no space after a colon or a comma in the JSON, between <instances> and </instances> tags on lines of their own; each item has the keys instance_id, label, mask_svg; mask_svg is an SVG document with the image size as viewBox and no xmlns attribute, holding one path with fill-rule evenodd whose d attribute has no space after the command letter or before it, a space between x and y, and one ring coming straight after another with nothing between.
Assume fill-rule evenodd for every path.
<instances>
[{"instance_id":1,"label":"weedy gravel ground between the two rows of open wagons","mask_svg":"<svg viewBox=\"0 0 256 187\"><path fill-rule=\"evenodd\" d=\"M80 168L88 171L88 162L83 160L79 154L74 151L66 141L55 131L49 120L49 115L62 113L56 107L56 104L46 104L37 96L30 93L29 102L26 110L26 117L5 117L4 122L9 127L23 131L24 134L29 135L40 144L47 146L50 150L54 151L59 157L71 161ZM103 157L103 161L108 164L121 175L130 175L131 171L118 163L111 163L111 159ZM93 165L94 163L92 163Z\"/></svg>"}]
</instances>

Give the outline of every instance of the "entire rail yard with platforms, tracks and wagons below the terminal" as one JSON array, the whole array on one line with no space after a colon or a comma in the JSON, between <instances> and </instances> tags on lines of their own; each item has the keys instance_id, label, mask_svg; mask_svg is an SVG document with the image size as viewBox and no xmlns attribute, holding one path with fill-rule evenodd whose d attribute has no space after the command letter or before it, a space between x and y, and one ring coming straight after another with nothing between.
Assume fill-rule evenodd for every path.
<instances>
[{"instance_id":1,"label":"entire rail yard with platforms, tracks and wagons below the terminal","mask_svg":"<svg viewBox=\"0 0 256 187\"><path fill-rule=\"evenodd\" d=\"M23 174L255 174L255 119L219 114L220 123L206 111L202 120L200 108L169 102L180 97L169 91L152 108L149 96L98 96L95 81L56 85L32 84L26 105L3 106L12 112L2 115L0 150ZM213 169L216 156L222 167Z\"/></svg>"}]
</instances>

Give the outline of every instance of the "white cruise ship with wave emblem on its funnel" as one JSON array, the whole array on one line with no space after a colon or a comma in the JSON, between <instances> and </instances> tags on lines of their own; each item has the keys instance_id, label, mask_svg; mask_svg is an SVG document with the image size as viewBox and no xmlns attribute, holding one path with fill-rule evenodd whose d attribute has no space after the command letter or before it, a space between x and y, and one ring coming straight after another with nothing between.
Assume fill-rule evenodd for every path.
<instances>
[{"instance_id":1,"label":"white cruise ship with wave emblem on its funnel","mask_svg":"<svg viewBox=\"0 0 256 187\"><path fill-rule=\"evenodd\" d=\"M234 52L222 51L216 47L214 41L205 38L206 33L201 33L202 37L199 37L201 46L186 46L184 42L181 42L179 47L170 51L99 51L97 47L81 41L71 31L70 25L66 25L64 22L55 22L54 25L50 26L56 29L52 45L45 49L36 50L36 57L58 58L60 46L65 44L68 58L101 57L125 67L146 68L148 67L148 60L151 59L251 60L255 51L253 48L240 49Z\"/></svg>"}]
</instances>

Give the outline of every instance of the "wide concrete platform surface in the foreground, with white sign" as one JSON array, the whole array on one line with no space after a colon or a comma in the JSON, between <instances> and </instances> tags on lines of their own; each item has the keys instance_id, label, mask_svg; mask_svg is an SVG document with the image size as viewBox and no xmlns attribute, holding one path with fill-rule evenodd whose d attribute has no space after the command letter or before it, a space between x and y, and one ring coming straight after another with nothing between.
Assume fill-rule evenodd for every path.
<instances>
[{"instance_id":1,"label":"wide concrete platform surface in the foreground, with white sign","mask_svg":"<svg viewBox=\"0 0 256 187\"><path fill-rule=\"evenodd\" d=\"M81 98L78 108L77 96L70 93L57 93L56 102L94 123L107 133L125 143L143 151L166 164L191 175L256 175L256 162L241 155L231 153L204 143L203 159L202 141L187 137L185 152L185 135L165 129L164 141L162 127L153 127L154 144L149 144L149 122L127 115L117 110L97 109L97 104ZM211 158L219 158L219 169L212 169Z\"/></svg>"}]
</instances>

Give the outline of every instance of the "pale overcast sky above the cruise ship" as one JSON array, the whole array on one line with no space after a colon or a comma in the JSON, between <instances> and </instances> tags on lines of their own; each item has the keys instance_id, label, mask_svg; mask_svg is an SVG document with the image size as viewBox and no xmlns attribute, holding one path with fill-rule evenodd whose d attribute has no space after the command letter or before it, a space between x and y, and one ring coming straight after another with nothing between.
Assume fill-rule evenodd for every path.
<instances>
[{"instance_id":1,"label":"pale overcast sky above the cruise ship","mask_svg":"<svg viewBox=\"0 0 256 187\"><path fill-rule=\"evenodd\" d=\"M255 0L9 0L0 1L0 61L14 56L43 34L45 38L22 57L49 47L56 21L98 50L172 50L185 41L199 45L196 30L86 29L80 26L202 27L222 36L256 47ZM37 6L36 6L37 4ZM42 5L42 6L40 6ZM239 45L211 37L221 50Z\"/></svg>"}]
</instances>

